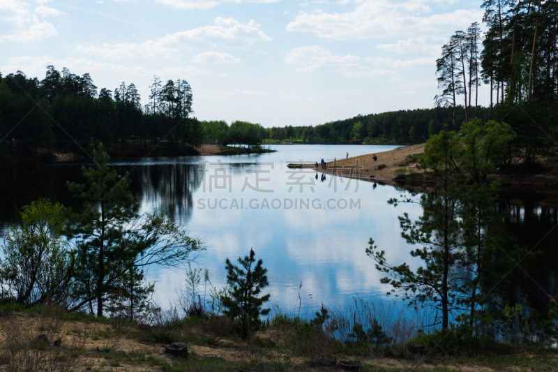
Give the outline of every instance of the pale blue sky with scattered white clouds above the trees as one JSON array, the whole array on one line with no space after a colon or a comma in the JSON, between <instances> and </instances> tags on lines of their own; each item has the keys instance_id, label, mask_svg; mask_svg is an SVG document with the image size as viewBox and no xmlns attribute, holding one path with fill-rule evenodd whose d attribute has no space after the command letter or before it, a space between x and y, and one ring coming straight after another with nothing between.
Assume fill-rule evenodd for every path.
<instances>
[{"instance_id":1,"label":"pale blue sky with scattered white clouds above the trees","mask_svg":"<svg viewBox=\"0 0 558 372\"><path fill-rule=\"evenodd\" d=\"M433 107L465 0L0 0L0 71L90 73L98 89L185 79L200 120L317 125ZM479 103L488 104L488 87Z\"/></svg>"}]
</instances>

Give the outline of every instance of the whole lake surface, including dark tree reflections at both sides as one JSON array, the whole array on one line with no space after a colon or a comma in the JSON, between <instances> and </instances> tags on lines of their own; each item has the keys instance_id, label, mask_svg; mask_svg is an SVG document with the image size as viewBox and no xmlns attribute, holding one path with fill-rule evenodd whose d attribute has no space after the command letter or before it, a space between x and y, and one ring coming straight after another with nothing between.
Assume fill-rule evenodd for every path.
<instances>
[{"instance_id":1,"label":"whole lake surface, including dark tree reflections at both sides","mask_svg":"<svg viewBox=\"0 0 558 372\"><path fill-rule=\"evenodd\" d=\"M290 170L288 163L333 161L376 153L396 146L275 145L278 152L242 156L190 156L112 161L123 174L130 172L131 191L141 211L165 209L189 234L204 241L206 251L195 265L208 269L211 283L225 285L225 260L236 260L253 248L268 271L271 304L287 313L309 316L320 304L342 310L354 297L392 301L381 274L365 254L368 241L386 251L390 262L409 263L409 246L400 237L398 216L421 216L416 205L393 207L390 198L402 191L366 181L326 176L314 170ZM80 208L68 193L66 181L82 182L83 163L4 165L0 167L0 226L16 221L17 207L37 198ZM316 177L317 176L317 177ZM509 299L544 308L545 292L558 293L558 203L536 195L505 195L500 209L509 209L508 228L529 248L538 243L537 262L522 262L529 273L513 271ZM550 234L545 235L548 231ZM544 237L544 238L543 238ZM541 240L541 238L543 238ZM529 278L531 276L533 280ZM184 271L151 268L156 284L153 299L162 306L184 288ZM203 282L202 282L203 296ZM401 306L398 302L398 306ZM402 308L402 306L401 306Z\"/></svg>"}]
</instances>

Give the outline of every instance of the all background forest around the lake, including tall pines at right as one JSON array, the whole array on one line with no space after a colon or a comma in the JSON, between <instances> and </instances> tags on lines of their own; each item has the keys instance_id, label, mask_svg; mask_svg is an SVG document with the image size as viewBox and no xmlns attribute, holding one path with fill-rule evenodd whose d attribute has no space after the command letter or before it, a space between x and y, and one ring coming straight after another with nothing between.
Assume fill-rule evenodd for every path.
<instances>
[{"instance_id":1,"label":"all background forest around the lake, including tall pines at right","mask_svg":"<svg viewBox=\"0 0 558 372\"><path fill-rule=\"evenodd\" d=\"M448 36L436 61L439 93L433 107L357 115L316 126L264 128L247 121L199 121L186 80L154 76L148 103L122 82L100 89L83 76L47 66L43 80L21 71L0 73L0 147L36 151L39 146L96 148L195 147L201 143L258 146L288 141L323 144L413 144L472 119L510 124L518 137L508 159L536 161L553 154L557 133L557 1L487 0L477 22ZM490 89L490 105L478 104ZM21 124L21 125L20 125ZM148 143L149 142L149 143Z\"/></svg>"}]
</instances>

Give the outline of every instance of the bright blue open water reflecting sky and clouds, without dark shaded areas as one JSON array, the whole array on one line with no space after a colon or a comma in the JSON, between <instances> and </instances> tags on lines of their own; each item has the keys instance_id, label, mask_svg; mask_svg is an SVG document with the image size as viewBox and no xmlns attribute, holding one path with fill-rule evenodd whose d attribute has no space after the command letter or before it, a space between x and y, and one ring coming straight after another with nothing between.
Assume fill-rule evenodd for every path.
<instances>
[{"instance_id":1,"label":"bright blue open water reflecting sky and clouds, without dark shaded areas","mask_svg":"<svg viewBox=\"0 0 558 372\"><path fill-rule=\"evenodd\" d=\"M146 159L150 166L169 166L171 177L176 168L211 162L205 165L206 172L201 167L197 169L197 174L200 177L205 174L205 178L197 180L198 187L192 188L189 212L179 211L184 208L176 206L172 213L174 218L186 223L191 235L204 241L206 252L197 259L197 265L209 269L211 282L220 288L225 286L225 260L247 255L253 248L268 269L267 291L271 293L271 304L289 313L300 311L301 315L310 315L322 303L342 310L356 296L386 300L388 288L380 285L381 275L365 254L365 248L373 237L386 251L387 258L398 261L407 258L409 262L410 247L400 237L398 216L407 211L410 216L418 217L421 209L388 205L387 200L400 195L391 186L373 188L369 182L356 180L349 184L347 179L329 175L322 182L321 174L316 180L313 170L289 170L286 165L301 159L333 161L333 158L345 158L347 152L349 156L378 154L395 147L280 145L271 148L278 152ZM210 181L209 177L215 174L223 176L217 182L226 188L217 189L216 178ZM256 177L269 181L260 181L258 190L249 186L243 189L246 182L255 188ZM302 181L296 184L299 179ZM301 183L304 184L302 192ZM140 196L146 211L172 208L168 198L154 198L153 194ZM218 206L219 203L226 209ZM286 209L285 203L292 207ZM176 290L184 288L183 272L155 269L149 279L156 283L154 299L158 304L174 300Z\"/></svg>"}]
</instances>

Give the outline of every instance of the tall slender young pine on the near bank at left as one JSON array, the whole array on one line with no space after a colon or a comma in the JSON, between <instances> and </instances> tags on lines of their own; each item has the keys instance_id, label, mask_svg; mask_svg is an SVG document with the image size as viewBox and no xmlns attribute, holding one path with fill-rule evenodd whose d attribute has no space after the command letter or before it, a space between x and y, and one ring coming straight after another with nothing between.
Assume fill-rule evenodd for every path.
<instances>
[{"instance_id":1,"label":"tall slender young pine on the near bank at left","mask_svg":"<svg viewBox=\"0 0 558 372\"><path fill-rule=\"evenodd\" d=\"M96 168L83 168L87 184L68 182L75 196L84 199L82 214L73 214L68 235L76 239L78 249L78 275L75 295L82 303L89 303L93 313L93 300L97 315L103 315L108 297L114 294L118 280L115 274L126 272L126 247L119 244L127 231L124 225L137 217L137 203L128 191L128 174L119 178L116 170L107 166L109 156L94 152Z\"/></svg>"}]
</instances>

